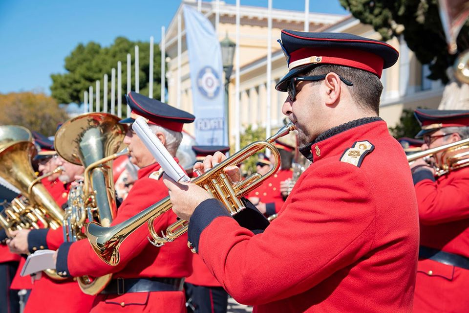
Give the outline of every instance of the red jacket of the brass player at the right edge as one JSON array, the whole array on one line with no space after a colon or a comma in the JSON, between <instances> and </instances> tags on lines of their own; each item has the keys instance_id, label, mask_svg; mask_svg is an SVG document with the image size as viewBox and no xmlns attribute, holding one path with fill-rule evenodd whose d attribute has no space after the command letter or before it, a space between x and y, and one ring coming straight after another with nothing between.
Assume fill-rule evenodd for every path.
<instances>
[{"instance_id":1,"label":"red jacket of the brass player at the right edge","mask_svg":"<svg viewBox=\"0 0 469 313\"><path fill-rule=\"evenodd\" d=\"M436 181L430 171L422 172L414 175L420 245L469 258L469 168ZM468 312L468 291L468 269L420 260L414 312Z\"/></svg>"}]
</instances>

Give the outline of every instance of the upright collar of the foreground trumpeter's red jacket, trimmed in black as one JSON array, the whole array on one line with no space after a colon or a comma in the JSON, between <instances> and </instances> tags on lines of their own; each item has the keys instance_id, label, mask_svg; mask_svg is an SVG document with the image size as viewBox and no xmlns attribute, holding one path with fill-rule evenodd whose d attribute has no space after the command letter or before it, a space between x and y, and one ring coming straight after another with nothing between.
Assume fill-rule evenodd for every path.
<instances>
[{"instance_id":1,"label":"upright collar of the foreground trumpeter's red jacket, trimmed in black","mask_svg":"<svg viewBox=\"0 0 469 313\"><path fill-rule=\"evenodd\" d=\"M334 127L318 136L312 143L301 147L300 152L314 162L331 155L341 155L356 141L368 140L380 134L389 134L386 122L380 117L367 117Z\"/></svg>"}]
</instances>

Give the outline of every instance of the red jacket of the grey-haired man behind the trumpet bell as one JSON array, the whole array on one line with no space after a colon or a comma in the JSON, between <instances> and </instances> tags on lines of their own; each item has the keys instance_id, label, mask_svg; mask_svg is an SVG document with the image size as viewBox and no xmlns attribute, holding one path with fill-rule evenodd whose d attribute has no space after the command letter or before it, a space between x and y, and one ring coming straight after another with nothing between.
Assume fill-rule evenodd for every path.
<instances>
[{"instance_id":1,"label":"red jacket of the grey-haired man behind the trumpet bell","mask_svg":"<svg viewBox=\"0 0 469 313\"><path fill-rule=\"evenodd\" d=\"M161 178L160 165L155 163L138 171L128 197L122 202L112 224L122 223L143 209L168 196ZM160 233L176 221L170 210L155 220ZM149 243L147 224L128 236L119 249L120 263L109 266L94 252L87 240L80 240L59 248L57 261L71 276L103 276L113 273L113 278L171 277L182 278L192 273L192 253L187 247L187 235L172 243L155 247ZM65 266L64 266L65 263ZM62 265L61 265L62 264ZM182 291L129 292L123 295L99 294L91 312L123 310L128 312L185 312Z\"/></svg>"}]
</instances>

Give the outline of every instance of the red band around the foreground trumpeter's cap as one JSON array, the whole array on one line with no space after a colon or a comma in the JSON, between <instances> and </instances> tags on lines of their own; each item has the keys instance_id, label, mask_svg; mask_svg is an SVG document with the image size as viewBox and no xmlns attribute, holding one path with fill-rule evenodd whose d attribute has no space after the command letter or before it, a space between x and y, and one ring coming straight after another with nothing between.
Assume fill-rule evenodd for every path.
<instances>
[{"instance_id":1,"label":"red band around the foreground trumpeter's cap","mask_svg":"<svg viewBox=\"0 0 469 313\"><path fill-rule=\"evenodd\" d=\"M333 64L345 67L354 67L373 73L381 78L384 60L379 55L357 50L357 49L336 49L336 48L301 48L290 54L290 64L298 60L307 59L312 56L321 57L318 64ZM298 64L316 63L318 58Z\"/></svg>"}]
</instances>

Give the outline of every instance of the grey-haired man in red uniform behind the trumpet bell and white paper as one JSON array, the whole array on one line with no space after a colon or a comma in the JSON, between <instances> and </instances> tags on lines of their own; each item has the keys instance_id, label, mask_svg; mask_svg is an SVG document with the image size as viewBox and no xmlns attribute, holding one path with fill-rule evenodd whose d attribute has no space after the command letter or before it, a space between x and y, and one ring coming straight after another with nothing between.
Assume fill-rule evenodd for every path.
<instances>
[{"instance_id":1,"label":"grey-haired man in red uniform behind the trumpet bell and white paper","mask_svg":"<svg viewBox=\"0 0 469 313\"><path fill-rule=\"evenodd\" d=\"M182 139L184 123L194 116L156 99L129 92L131 117L122 123L132 123L137 116L148 120L150 129L172 156ZM117 211L112 224L119 224L143 209L168 196L161 179L162 170L140 138L128 128L127 144L132 163L137 165L138 179ZM170 210L158 217L154 226L158 233L176 221ZM192 253L187 248L187 236L162 247L152 246L144 224L128 236L119 249L120 263L109 266L102 261L88 240L64 243L57 255L57 271L67 277L91 275L99 277L112 273L112 280L97 295L91 312L185 312L183 278L192 273Z\"/></svg>"}]
</instances>

